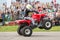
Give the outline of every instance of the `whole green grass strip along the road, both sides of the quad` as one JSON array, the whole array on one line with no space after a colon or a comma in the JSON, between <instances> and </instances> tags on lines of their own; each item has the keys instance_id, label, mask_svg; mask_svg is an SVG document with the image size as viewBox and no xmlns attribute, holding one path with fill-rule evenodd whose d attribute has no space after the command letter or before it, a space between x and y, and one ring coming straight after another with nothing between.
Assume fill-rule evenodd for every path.
<instances>
[{"instance_id":1,"label":"whole green grass strip along the road, both sides of the quad","mask_svg":"<svg viewBox=\"0 0 60 40\"><path fill-rule=\"evenodd\" d=\"M0 26L0 32L16 32L18 26ZM60 26L54 26L51 30L36 28L34 32L60 32Z\"/></svg>"}]
</instances>

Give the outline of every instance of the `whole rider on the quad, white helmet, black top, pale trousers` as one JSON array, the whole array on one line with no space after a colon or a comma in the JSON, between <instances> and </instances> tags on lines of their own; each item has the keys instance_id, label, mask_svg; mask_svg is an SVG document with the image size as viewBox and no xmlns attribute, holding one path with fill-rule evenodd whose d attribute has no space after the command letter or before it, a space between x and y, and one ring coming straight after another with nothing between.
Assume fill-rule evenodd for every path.
<instances>
[{"instance_id":1,"label":"whole rider on the quad, white helmet, black top, pale trousers","mask_svg":"<svg viewBox=\"0 0 60 40\"><path fill-rule=\"evenodd\" d=\"M25 13L24 19L32 20L32 24L33 24L33 25L37 25L37 24L35 23L35 20L34 20L33 18L31 18L30 16L28 16L28 13L29 13L29 12L36 12L36 11L34 11L34 10L32 10L32 9L33 9L32 5L30 5L30 4L27 4L27 5L26 5L26 13ZM37 12L36 12L36 13L37 13Z\"/></svg>"}]
</instances>

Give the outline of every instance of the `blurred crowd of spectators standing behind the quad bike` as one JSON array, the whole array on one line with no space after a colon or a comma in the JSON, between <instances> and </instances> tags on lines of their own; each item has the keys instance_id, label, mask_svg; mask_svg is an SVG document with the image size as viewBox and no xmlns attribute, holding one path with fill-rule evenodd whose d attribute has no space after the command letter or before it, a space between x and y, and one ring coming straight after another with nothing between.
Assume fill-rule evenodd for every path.
<instances>
[{"instance_id":1,"label":"blurred crowd of spectators standing behind the quad bike","mask_svg":"<svg viewBox=\"0 0 60 40\"><path fill-rule=\"evenodd\" d=\"M11 6L7 7L5 3L3 3L2 8L0 9L0 19L2 18L4 21L14 21L20 19L20 17L27 16L27 5L30 5L29 8L31 10L38 11L39 13L52 13L59 14L57 16L60 17L60 4L54 2L42 3L40 1L33 2L11 2ZM28 9L29 9L28 8ZM50 14L49 14L50 15ZM52 15L51 15L52 16Z\"/></svg>"}]
</instances>

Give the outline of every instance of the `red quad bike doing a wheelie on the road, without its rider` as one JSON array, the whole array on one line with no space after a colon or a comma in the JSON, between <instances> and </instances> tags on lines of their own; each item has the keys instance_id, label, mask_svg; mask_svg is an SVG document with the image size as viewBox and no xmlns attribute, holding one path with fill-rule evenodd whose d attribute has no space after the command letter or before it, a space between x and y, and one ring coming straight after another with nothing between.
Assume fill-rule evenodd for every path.
<instances>
[{"instance_id":1,"label":"red quad bike doing a wheelie on the road, without its rider","mask_svg":"<svg viewBox=\"0 0 60 40\"><path fill-rule=\"evenodd\" d=\"M32 30L37 27L45 30L52 28L52 22L46 14L33 14L31 18L35 20L37 25L33 25L32 20L29 19L16 20L16 22L19 24L19 28L17 30L19 35L29 37L32 35Z\"/></svg>"}]
</instances>

